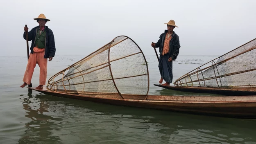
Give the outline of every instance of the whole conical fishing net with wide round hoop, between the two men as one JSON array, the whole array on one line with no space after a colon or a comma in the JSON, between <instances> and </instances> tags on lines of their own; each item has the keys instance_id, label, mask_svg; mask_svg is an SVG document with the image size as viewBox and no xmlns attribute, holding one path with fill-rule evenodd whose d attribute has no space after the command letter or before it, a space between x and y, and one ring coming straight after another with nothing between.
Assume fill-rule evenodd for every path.
<instances>
[{"instance_id":1,"label":"whole conical fishing net with wide round hoop, between the two men","mask_svg":"<svg viewBox=\"0 0 256 144\"><path fill-rule=\"evenodd\" d=\"M140 47L118 36L82 60L52 76L47 89L55 92L106 97L147 95L149 74ZM105 95L104 95L105 94Z\"/></svg>"}]
</instances>

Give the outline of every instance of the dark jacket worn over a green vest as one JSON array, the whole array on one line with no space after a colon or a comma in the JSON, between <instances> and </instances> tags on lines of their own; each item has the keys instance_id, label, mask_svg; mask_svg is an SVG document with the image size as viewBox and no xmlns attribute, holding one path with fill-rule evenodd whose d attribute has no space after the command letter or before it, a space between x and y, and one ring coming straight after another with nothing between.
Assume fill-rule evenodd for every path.
<instances>
[{"instance_id":1,"label":"dark jacket worn over a green vest","mask_svg":"<svg viewBox=\"0 0 256 144\"><path fill-rule=\"evenodd\" d=\"M34 53L33 48L34 48L34 43L35 43L35 39L36 39L37 28L39 28L39 26L34 27L33 29L31 29L28 32L28 41L32 41L32 44L31 44L31 47L30 47L31 54ZM44 58L49 58L49 56L54 57L56 49L55 49L55 42L54 42L53 32L47 26L45 26L45 32L46 32L46 34L45 34L46 36L45 36L45 55L44 55ZM24 32L23 38L26 40L26 32Z\"/></svg>"}]
</instances>

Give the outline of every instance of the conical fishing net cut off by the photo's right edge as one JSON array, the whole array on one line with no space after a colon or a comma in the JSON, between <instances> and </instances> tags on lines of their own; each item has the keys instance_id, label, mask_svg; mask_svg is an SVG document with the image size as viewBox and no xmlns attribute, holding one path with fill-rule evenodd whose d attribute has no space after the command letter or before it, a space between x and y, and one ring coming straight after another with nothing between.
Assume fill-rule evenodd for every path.
<instances>
[{"instance_id":1,"label":"conical fishing net cut off by the photo's right edge","mask_svg":"<svg viewBox=\"0 0 256 144\"><path fill-rule=\"evenodd\" d=\"M175 86L251 88L256 86L256 39L174 81Z\"/></svg>"}]
</instances>

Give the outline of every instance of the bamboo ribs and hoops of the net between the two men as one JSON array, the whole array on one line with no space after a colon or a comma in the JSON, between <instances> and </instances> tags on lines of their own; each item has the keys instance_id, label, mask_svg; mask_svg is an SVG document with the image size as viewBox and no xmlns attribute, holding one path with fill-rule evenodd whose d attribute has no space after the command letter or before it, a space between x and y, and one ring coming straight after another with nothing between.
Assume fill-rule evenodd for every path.
<instances>
[{"instance_id":1,"label":"bamboo ribs and hoops of the net between the two men","mask_svg":"<svg viewBox=\"0 0 256 144\"><path fill-rule=\"evenodd\" d=\"M148 92L149 92L149 85L150 85L150 83L149 83L148 65L147 65L147 61L146 61L145 55L143 54L143 52L142 52L142 50L140 49L140 47L139 47L131 38L129 38L129 37L127 37L127 36L119 36L119 37L123 37L123 38L118 39L118 40L117 40L118 42L116 42L116 43L114 43L114 42L115 42L116 38L118 38L118 37L114 38L111 42L107 43L106 45L104 45L104 46L101 47L100 49L96 50L96 51L93 52L92 54L89 54L89 55L86 56L85 58L82 58L80 61L77 61L76 63L70 65L70 66L67 67L66 69L64 69L64 70L58 72L57 74L55 74L54 76L52 76L52 77L49 79L49 81L48 81L48 86L49 86L49 88L48 88L48 86L47 86L47 89L50 90L50 91L52 91L52 88L53 88L53 86L54 86L54 87L56 87L56 88L54 89L54 91L56 91L56 92L58 91L58 92L61 92L61 93L78 93L78 94L119 94L119 95L120 95L120 98L124 99L124 97L122 97L122 93L120 92L120 90L118 90L118 87L117 87L117 85L116 85L116 83L115 83L115 80L116 80L116 79L126 79L126 78L132 78L132 77L147 75L147 93L146 93L146 95L145 95L145 99L147 99L147 95L148 95ZM134 53L134 54L129 54L129 55L127 55L127 56L122 56L121 58L115 58L115 59L113 59L113 60L110 61L110 59L111 59L111 57L110 57L111 48L114 47L115 45L118 45L118 44L120 44L120 43L126 41L126 40L129 40L129 42L132 41L132 42L136 45L135 48L138 48L138 49L140 50L140 52L136 52L136 53ZM114 44L113 44L113 43L114 43ZM103 49L102 49L102 48L103 48ZM108 50L108 51L106 51L106 50ZM89 60L92 58L92 57L90 57L90 56L93 56L94 54L95 54L95 56L96 56L97 54L100 54L100 53L102 53L102 52L107 52L106 54L107 54L107 56L108 56L108 62L106 62L106 63L101 63L101 64L98 64L98 65L96 65L96 66L86 68L86 69L84 69L84 70L79 70L79 69L78 69L78 65L79 65L79 66L80 66L80 65L83 65L84 63L86 63L87 61L89 61ZM138 75L133 75L133 76L124 76L124 77L119 77L119 78L115 78L115 77L114 77L113 72L112 72L112 69L111 69L111 62L113 62L113 61L118 61L118 60L120 60L120 59L122 59L122 58L126 58L126 57L133 56L133 55L140 54L140 53L143 55L144 61L145 61L145 63L146 63L146 67L145 67L145 68L147 69L147 72L146 72L146 73L138 74ZM87 58L87 59L86 59L86 58ZM82 64L81 64L81 63L82 63ZM86 64L86 65L87 65L87 64ZM103 66L102 66L102 65L103 65ZM85 81L84 75L89 74L89 73L91 73L91 72L95 72L95 71L100 70L100 69L105 68L105 67L109 67L109 72L110 72L110 75L111 75L111 79L104 79L104 80L98 80L98 81L87 81L87 82ZM72 68L72 69L71 69L71 68ZM96 68L96 69L95 69L95 68ZM70 70L70 69L71 69L71 71L68 71L68 74L65 75L65 72L66 72L67 70ZM75 69L77 69L78 72L74 72ZM94 69L94 70L91 70L91 69ZM88 71L88 70L91 70L91 71L82 73L82 72ZM60 74L62 75L62 78L61 78L60 80L58 80L58 81L54 81L54 79L56 79L56 77L59 76ZM73 75L75 75L75 74L78 74L78 75L77 75L77 76L73 76ZM70 76L73 76L73 77L70 77ZM83 82L70 84L70 80L71 80L71 79L77 78L77 77L79 77L79 76L82 76ZM65 77L66 77L66 79L64 79ZM65 84L64 84L64 81L68 81L68 85L65 85ZM84 91L84 90L85 90L85 87L86 87L86 86L85 86L86 83L93 83L93 82L99 82L99 81L113 81L113 85L114 85L114 87L116 88L117 93L116 93L116 92L107 92L107 93L106 93L106 92L85 92L85 91ZM58 85L58 83L62 83L62 85ZM84 87L82 88L82 91L81 91L81 90L80 90L80 91L76 91L76 90L71 90L71 89L70 89L70 88L71 88L71 87L70 87L71 85L81 85L81 84L84 84ZM61 88L60 90L58 90L59 86L61 86L61 87L63 86L63 89L64 89L64 90L61 91L62 88ZM69 90L67 89L67 86L69 86ZM138 95L138 94L134 94L134 95ZM144 95L141 95L141 96L144 96Z\"/></svg>"}]
</instances>

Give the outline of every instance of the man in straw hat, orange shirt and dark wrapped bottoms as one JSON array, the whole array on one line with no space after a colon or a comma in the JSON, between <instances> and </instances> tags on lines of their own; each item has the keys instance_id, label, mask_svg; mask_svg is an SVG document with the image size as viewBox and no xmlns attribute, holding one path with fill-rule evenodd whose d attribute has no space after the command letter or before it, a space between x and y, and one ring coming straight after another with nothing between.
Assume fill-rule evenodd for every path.
<instances>
[{"instance_id":1,"label":"man in straw hat, orange shirt and dark wrapped bottoms","mask_svg":"<svg viewBox=\"0 0 256 144\"><path fill-rule=\"evenodd\" d=\"M159 71L161 79L159 83L166 82L163 85L170 86L172 83L172 61L175 61L179 54L179 36L173 31L177 25L174 20L170 20L167 24L167 30L160 35L157 43L152 43L151 46L156 48L159 47L160 58L159 58Z\"/></svg>"}]
</instances>

